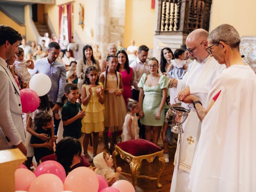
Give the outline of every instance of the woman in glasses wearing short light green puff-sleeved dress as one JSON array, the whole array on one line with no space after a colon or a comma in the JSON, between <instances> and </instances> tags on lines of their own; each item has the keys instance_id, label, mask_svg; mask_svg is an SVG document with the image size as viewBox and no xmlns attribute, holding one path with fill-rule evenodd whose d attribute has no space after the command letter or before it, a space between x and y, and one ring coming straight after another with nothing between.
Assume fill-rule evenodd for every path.
<instances>
[{"instance_id":1,"label":"woman in glasses wearing short light green puff-sleeved dress","mask_svg":"<svg viewBox=\"0 0 256 192\"><path fill-rule=\"evenodd\" d=\"M158 60L152 58L148 62L150 74L143 74L138 83L140 87L140 123L145 125L146 140L150 140L153 132L153 143L158 140L159 129L164 124L164 104L167 96L167 78L158 74ZM144 97L144 98L143 98Z\"/></svg>"}]
</instances>

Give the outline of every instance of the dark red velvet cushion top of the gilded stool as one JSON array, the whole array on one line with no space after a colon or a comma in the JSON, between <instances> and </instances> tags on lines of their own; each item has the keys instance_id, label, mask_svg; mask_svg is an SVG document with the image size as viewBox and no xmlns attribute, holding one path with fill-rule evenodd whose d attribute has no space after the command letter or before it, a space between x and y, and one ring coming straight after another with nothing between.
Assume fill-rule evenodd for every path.
<instances>
[{"instance_id":1,"label":"dark red velvet cushion top of the gilded stool","mask_svg":"<svg viewBox=\"0 0 256 192\"><path fill-rule=\"evenodd\" d=\"M144 139L125 141L118 143L117 146L133 156L149 155L162 151L160 147Z\"/></svg>"}]
</instances>

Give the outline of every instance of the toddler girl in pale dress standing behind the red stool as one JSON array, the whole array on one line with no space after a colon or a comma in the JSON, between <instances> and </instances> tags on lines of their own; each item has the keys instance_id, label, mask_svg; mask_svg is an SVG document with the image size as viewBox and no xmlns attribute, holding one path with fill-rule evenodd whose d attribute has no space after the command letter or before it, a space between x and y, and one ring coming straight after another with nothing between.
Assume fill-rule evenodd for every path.
<instances>
[{"instance_id":1,"label":"toddler girl in pale dress standing behind the red stool","mask_svg":"<svg viewBox=\"0 0 256 192\"><path fill-rule=\"evenodd\" d=\"M122 142L139 138L139 117L136 116L136 113L140 112L138 101L128 98L127 110L128 112L124 118L123 132L121 135Z\"/></svg>"}]
</instances>

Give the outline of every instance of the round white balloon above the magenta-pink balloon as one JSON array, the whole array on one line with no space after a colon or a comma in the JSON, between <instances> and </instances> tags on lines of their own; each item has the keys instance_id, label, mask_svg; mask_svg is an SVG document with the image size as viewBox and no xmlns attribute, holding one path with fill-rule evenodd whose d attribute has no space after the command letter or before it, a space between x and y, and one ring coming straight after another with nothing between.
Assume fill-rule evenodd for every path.
<instances>
[{"instance_id":1,"label":"round white balloon above the magenta-pink balloon","mask_svg":"<svg viewBox=\"0 0 256 192\"><path fill-rule=\"evenodd\" d=\"M38 73L32 76L29 88L34 90L38 96L47 94L52 87L52 82L46 74Z\"/></svg>"}]
</instances>

